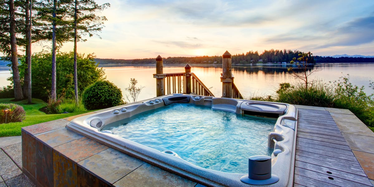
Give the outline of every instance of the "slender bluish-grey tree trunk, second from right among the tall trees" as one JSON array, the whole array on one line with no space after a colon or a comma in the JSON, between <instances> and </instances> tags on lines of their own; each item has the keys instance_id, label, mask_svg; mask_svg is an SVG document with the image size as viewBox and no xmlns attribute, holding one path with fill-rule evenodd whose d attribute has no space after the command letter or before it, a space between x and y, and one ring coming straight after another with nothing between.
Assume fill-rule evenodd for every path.
<instances>
[{"instance_id":1,"label":"slender bluish-grey tree trunk, second from right among the tall trees","mask_svg":"<svg viewBox=\"0 0 374 187\"><path fill-rule=\"evenodd\" d=\"M52 21L52 88L50 99L56 100L56 9L57 0L53 0Z\"/></svg>"}]
</instances>

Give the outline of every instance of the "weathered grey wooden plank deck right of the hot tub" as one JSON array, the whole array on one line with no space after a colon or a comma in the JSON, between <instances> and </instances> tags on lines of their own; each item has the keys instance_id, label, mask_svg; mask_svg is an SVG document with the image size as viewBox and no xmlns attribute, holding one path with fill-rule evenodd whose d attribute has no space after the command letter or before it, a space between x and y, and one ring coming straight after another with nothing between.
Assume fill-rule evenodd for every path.
<instances>
[{"instance_id":1,"label":"weathered grey wooden plank deck right of the hot tub","mask_svg":"<svg viewBox=\"0 0 374 187\"><path fill-rule=\"evenodd\" d=\"M328 111L298 108L294 187L372 187Z\"/></svg>"}]
</instances>

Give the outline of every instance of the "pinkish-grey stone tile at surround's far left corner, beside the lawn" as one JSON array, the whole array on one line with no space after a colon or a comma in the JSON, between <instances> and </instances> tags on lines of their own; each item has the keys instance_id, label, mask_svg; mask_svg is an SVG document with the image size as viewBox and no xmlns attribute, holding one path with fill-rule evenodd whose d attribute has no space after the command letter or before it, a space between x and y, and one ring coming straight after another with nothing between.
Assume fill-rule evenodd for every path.
<instances>
[{"instance_id":1,"label":"pinkish-grey stone tile at surround's far left corner, beside the lawn","mask_svg":"<svg viewBox=\"0 0 374 187\"><path fill-rule=\"evenodd\" d=\"M35 125L30 125L27 127L22 127L23 130L27 131L30 134L39 134L39 133L44 133L53 129L58 129L61 127L65 127L65 125L68 123L66 119L56 119L53 121L47 121L41 124L35 124Z\"/></svg>"}]
</instances>

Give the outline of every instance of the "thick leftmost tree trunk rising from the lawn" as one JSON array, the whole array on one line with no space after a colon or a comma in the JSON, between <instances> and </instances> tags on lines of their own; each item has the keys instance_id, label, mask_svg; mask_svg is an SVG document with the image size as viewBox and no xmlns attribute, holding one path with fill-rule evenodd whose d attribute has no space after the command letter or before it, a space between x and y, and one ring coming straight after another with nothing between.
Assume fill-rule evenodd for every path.
<instances>
[{"instance_id":1,"label":"thick leftmost tree trunk rising from the lawn","mask_svg":"<svg viewBox=\"0 0 374 187\"><path fill-rule=\"evenodd\" d=\"M17 40L16 40L16 21L14 15L14 0L9 0L9 12L10 12L10 50L12 57L12 71L13 71L13 88L14 88L14 99L21 100L24 98L22 94L21 81L19 80L18 71L18 54L17 54Z\"/></svg>"}]
</instances>

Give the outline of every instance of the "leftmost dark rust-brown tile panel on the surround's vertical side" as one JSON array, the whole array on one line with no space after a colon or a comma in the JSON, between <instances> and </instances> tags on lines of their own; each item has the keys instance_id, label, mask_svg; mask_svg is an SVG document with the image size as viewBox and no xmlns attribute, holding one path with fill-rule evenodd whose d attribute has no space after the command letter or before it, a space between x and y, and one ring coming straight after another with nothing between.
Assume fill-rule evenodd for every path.
<instances>
[{"instance_id":1,"label":"leftmost dark rust-brown tile panel on the surround's vertical side","mask_svg":"<svg viewBox=\"0 0 374 187\"><path fill-rule=\"evenodd\" d=\"M35 140L35 137L26 133L24 130L22 130L21 134L22 134L22 171L25 174L27 172L27 174L30 174L33 178L35 178L36 140Z\"/></svg>"}]
</instances>

